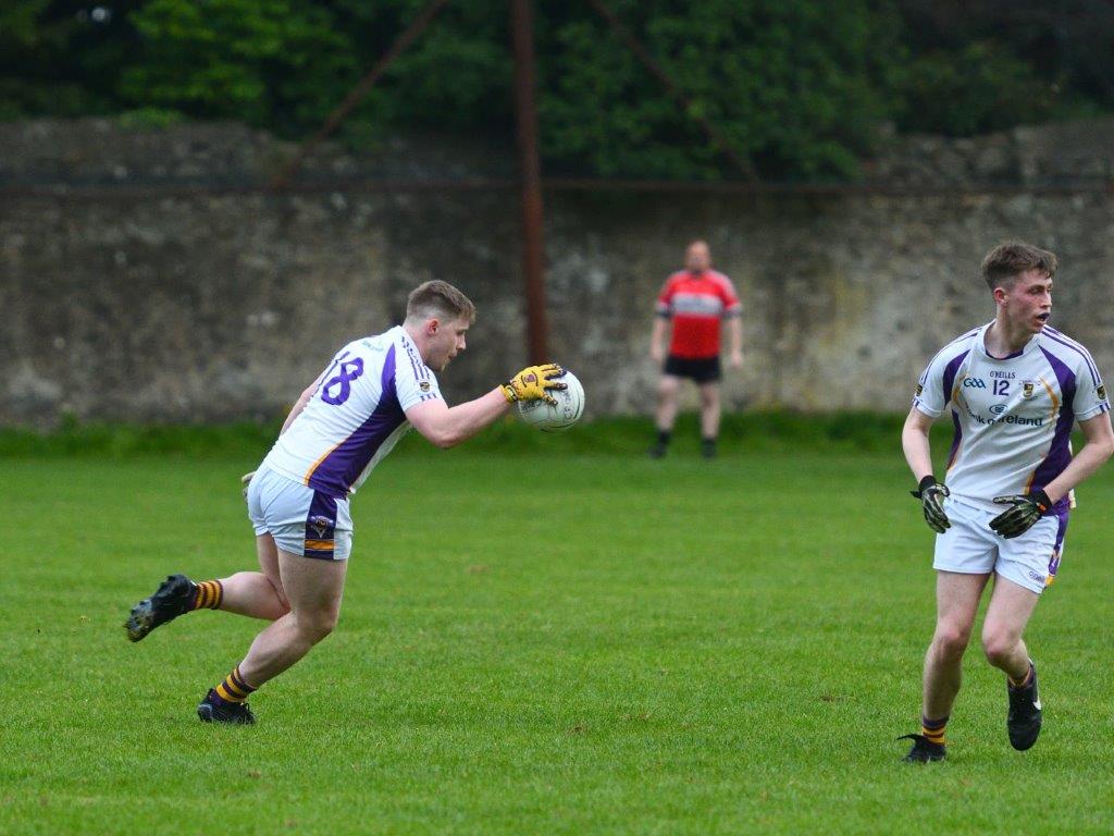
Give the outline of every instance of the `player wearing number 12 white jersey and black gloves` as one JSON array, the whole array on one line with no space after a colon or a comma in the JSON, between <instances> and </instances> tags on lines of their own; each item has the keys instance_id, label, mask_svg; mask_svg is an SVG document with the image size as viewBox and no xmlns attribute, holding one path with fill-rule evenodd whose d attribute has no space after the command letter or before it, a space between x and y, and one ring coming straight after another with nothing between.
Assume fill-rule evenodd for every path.
<instances>
[{"instance_id":1,"label":"player wearing number 12 white jersey and black gloves","mask_svg":"<svg viewBox=\"0 0 1114 836\"><path fill-rule=\"evenodd\" d=\"M1064 550L1073 488L1114 453L1110 402L1083 346L1047 324L1056 256L1005 243L983 261L991 322L952 340L917 385L901 434L937 533L936 633L925 658L921 733L911 762L944 760L945 727L979 600L994 577L983 623L986 658L1007 678L1010 745L1040 732L1037 674L1022 638ZM946 476L932 475L928 431L950 405L955 438ZM1073 457L1072 428L1086 443Z\"/></svg>"}]
</instances>

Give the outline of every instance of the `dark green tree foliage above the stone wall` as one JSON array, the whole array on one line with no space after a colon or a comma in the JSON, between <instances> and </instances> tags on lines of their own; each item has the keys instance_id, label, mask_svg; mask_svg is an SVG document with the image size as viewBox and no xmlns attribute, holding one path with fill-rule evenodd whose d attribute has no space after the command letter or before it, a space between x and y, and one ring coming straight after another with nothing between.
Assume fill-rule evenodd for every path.
<instances>
[{"instance_id":1,"label":"dark green tree foliage above the stone wall","mask_svg":"<svg viewBox=\"0 0 1114 836\"><path fill-rule=\"evenodd\" d=\"M1114 109L1108 0L603 1L691 113L587 0L535 0L550 173L737 176L695 115L764 177L817 179L853 176L886 121L968 135ZM304 137L428 4L99 2L0 4L0 118L234 118ZM508 18L507 0L451 0L345 130L510 135Z\"/></svg>"}]
</instances>

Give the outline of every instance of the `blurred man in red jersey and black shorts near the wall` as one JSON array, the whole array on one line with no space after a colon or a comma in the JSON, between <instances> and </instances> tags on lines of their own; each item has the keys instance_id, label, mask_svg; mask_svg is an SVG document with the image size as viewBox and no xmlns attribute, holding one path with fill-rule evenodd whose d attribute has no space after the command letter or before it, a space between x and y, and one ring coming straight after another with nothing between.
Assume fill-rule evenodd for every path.
<instances>
[{"instance_id":1,"label":"blurred man in red jersey and black shorts near the wall","mask_svg":"<svg viewBox=\"0 0 1114 836\"><path fill-rule=\"evenodd\" d=\"M703 241L685 251L685 269L671 275L657 298L657 317L649 342L655 362L665 360L658 387L657 444L649 455L661 458L670 446L677 417L677 390L682 378L691 378L701 393L701 450L715 456L720 435L720 322L727 320L731 333L732 368L743 364L742 305L731 280L712 270L712 253ZM670 324L673 334L666 356L664 338Z\"/></svg>"}]
</instances>

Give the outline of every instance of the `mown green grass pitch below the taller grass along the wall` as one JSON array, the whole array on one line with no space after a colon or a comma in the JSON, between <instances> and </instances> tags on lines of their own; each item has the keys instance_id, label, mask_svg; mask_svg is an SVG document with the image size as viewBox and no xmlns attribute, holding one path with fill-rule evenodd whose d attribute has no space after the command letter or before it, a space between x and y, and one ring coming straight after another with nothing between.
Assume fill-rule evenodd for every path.
<instances>
[{"instance_id":1,"label":"mown green grass pitch below the taller grass along the wall","mask_svg":"<svg viewBox=\"0 0 1114 836\"><path fill-rule=\"evenodd\" d=\"M1028 631L1040 742L1009 748L973 647L949 761L919 768L893 738L917 728L931 534L896 438L652 463L624 432L408 443L353 502L338 630L250 729L194 708L261 622L135 645L120 623L168 572L253 564L260 451L0 460L0 833L1111 832L1114 472Z\"/></svg>"}]
</instances>

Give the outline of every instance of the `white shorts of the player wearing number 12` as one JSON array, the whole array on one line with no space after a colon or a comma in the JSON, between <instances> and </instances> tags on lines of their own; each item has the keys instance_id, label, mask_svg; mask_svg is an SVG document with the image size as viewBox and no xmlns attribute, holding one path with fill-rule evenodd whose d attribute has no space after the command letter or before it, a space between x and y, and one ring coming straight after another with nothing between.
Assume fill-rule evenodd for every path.
<instances>
[{"instance_id":1,"label":"white shorts of the player wearing number 12","mask_svg":"<svg viewBox=\"0 0 1114 836\"><path fill-rule=\"evenodd\" d=\"M998 573L1018 586L1039 594L1055 580L1064 552L1067 512L1038 519L1018 537L995 534L990 521L1006 509L994 511L949 496L944 500L951 527L936 535L932 568L966 575Z\"/></svg>"}]
</instances>

